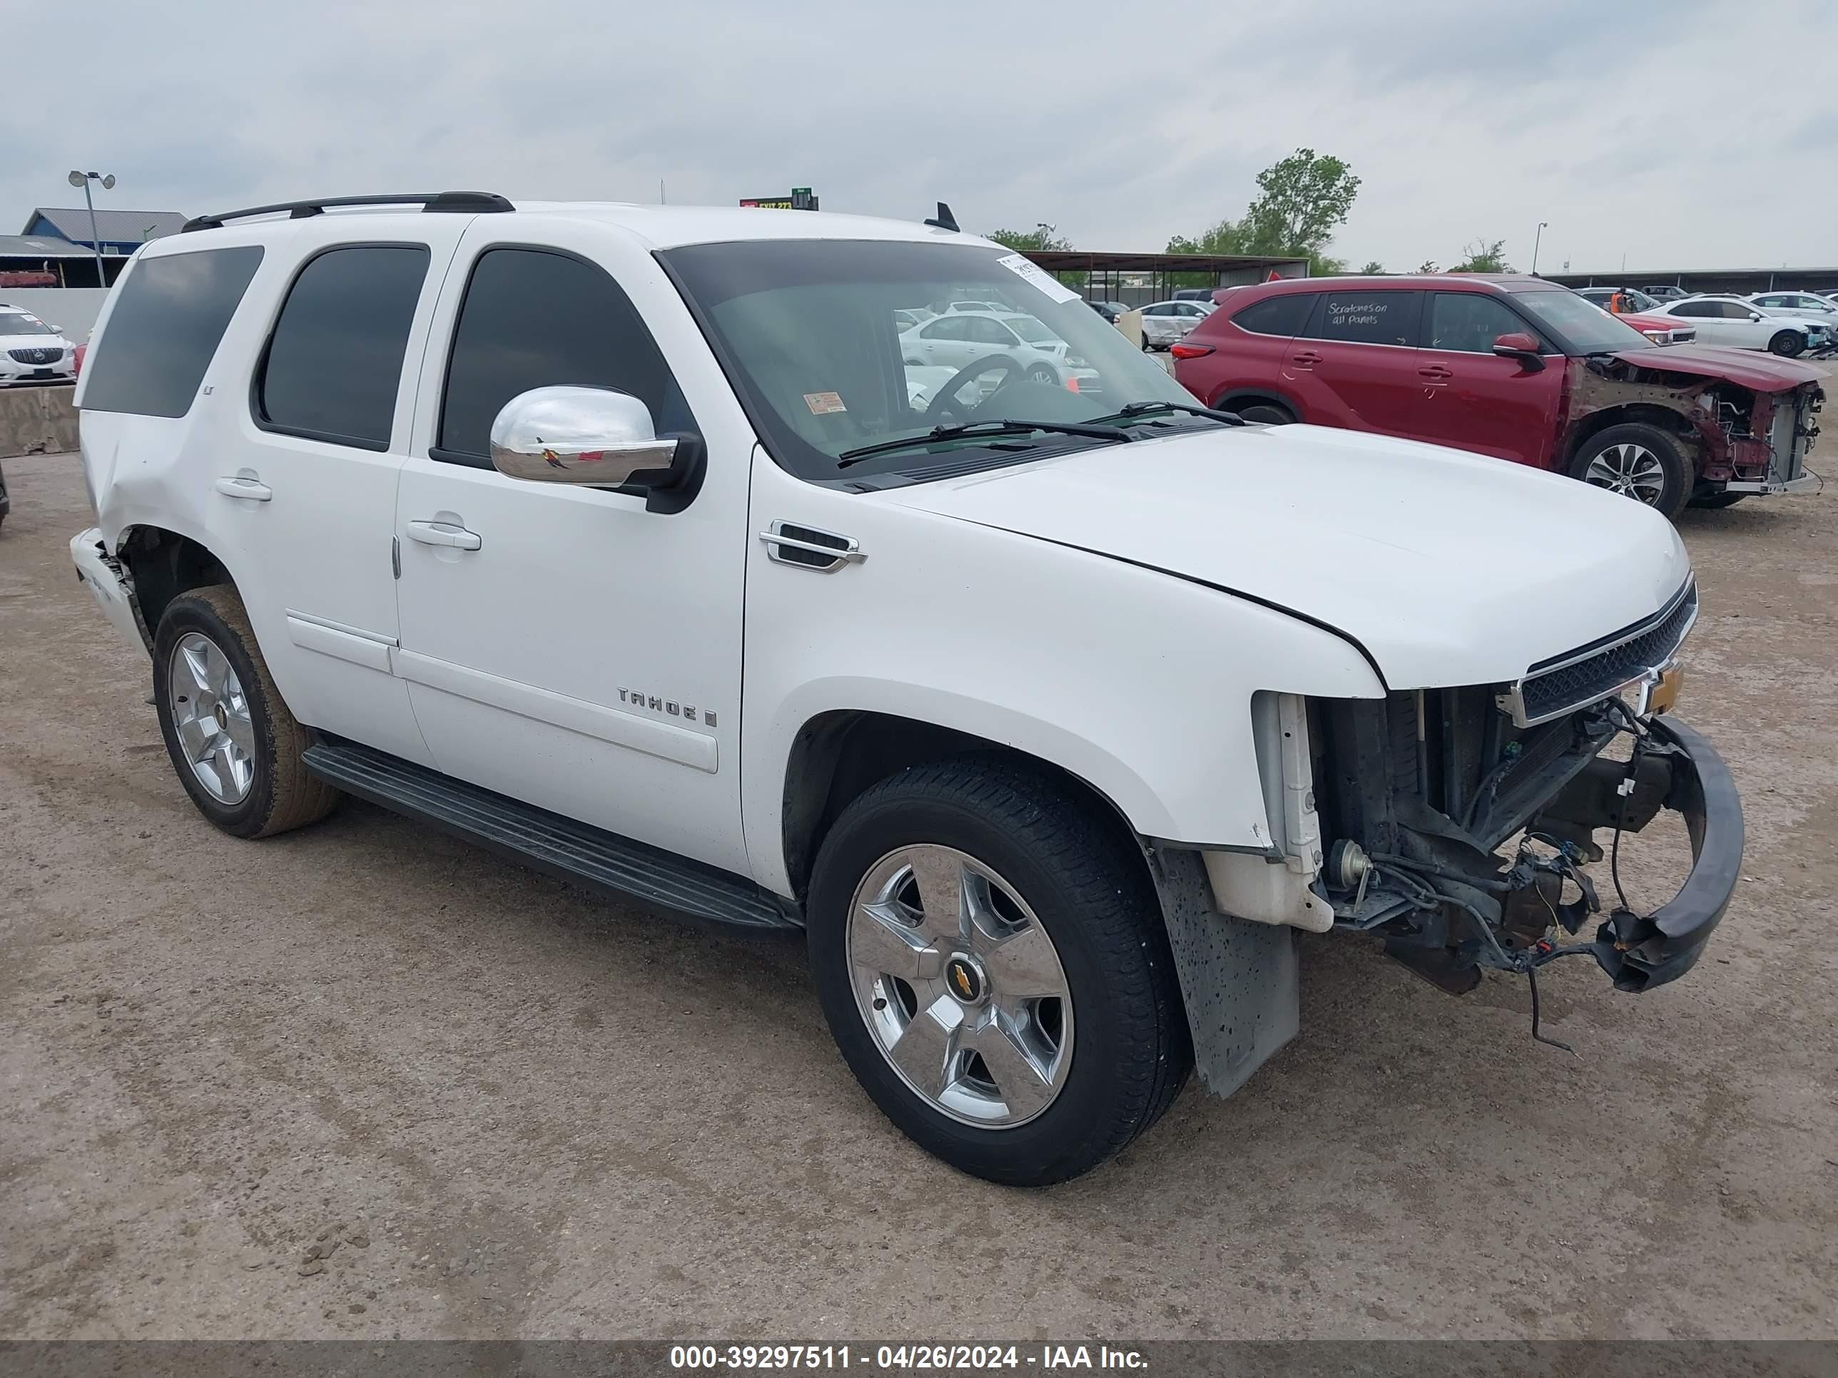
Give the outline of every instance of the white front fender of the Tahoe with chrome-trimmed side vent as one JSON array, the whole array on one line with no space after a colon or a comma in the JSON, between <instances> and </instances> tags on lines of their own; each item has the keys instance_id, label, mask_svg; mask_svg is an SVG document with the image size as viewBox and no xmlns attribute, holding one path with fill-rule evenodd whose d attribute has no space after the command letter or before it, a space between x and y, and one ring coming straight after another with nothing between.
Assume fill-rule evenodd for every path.
<instances>
[{"instance_id":1,"label":"white front fender of the Tahoe with chrome-trimmed side vent","mask_svg":"<svg viewBox=\"0 0 1838 1378\"><path fill-rule=\"evenodd\" d=\"M855 538L834 573L746 573L741 779L755 878L790 893L785 775L798 733L862 709L1002 742L1108 797L1147 838L1266 851L1257 691L1380 698L1349 641L1174 575L792 480L761 456L754 527ZM1298 551L1298 559L1307 559Z\"/></svg>"}]
</instances>

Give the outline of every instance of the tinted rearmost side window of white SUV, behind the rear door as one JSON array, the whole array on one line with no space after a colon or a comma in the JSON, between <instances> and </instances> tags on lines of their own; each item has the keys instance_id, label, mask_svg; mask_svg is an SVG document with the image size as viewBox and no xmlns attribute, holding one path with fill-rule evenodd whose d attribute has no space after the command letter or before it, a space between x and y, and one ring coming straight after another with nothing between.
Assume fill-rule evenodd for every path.
<instances>
[{"instance_id":1,"label":"tinted rearmost side window of white SUV, behind the rear door","mask_svg":"<svg viewBox=\"0 0 1838 1378\"><path fill-rule=\"evenodd\" d=\"M259 265L259 244L136 263L83 364L83 408L186 415Z\"/></svg>"}]
</instances>

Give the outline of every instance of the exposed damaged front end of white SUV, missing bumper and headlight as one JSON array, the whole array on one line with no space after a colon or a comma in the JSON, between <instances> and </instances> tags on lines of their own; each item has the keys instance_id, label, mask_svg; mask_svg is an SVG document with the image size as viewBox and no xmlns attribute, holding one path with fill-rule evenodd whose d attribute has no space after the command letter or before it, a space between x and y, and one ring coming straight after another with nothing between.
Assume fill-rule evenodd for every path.
<instances>
[{"instance_id":1,"label":"exposed damaged front end of white SUV, missing bumper and headlight","mask_svg":"<svg viewBox=\"0 0 1838 1378\"><path fill-rule=\"evenodd\" d=\"M1309 700L1318 884L1333 928L1380 937L1452 994L1472 990L1481 968L1531 976L1535 1036L1546 963L1592 955L1619 990L1687 972L1742 860L1728 768L1665 717L1696 606L1687 581L1651 617L1507 685ZM1617 740L1628 750L1608 753ZM1617 862L1621 834L1662 808L1684 816L1691 875L1652 913L1625 898L1605 911L1586 871L1605 856L1597 832L1612 830Z\"/></svg>"}]
</instances>

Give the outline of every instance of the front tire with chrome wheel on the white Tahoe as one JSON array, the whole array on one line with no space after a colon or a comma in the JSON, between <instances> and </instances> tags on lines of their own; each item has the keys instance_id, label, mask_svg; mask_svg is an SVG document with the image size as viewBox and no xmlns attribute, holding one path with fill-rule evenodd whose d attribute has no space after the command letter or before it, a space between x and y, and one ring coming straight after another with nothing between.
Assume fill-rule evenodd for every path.
<instances>
[{"instance_id":1,"label":"front tire with chrome wheel on the white Tahoe","mask_svg":"<svg viewBox=\"0 0 1838 1378\"><path fill-rule=\"evenodd\" d=\"M871 786L823 840L807 922L857 1080L972 1176L1075 1178L1193 1066L1141 854L1046 772L963 757Z\"/></svg>"}]
</instances>

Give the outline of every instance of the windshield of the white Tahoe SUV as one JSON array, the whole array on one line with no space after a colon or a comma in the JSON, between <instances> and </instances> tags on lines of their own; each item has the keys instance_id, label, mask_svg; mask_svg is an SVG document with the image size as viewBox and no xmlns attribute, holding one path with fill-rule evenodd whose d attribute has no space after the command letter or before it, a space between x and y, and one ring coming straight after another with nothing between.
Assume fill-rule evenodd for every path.
<instances>
[{"instance_id":1,"label":"windshield of the white Tahoe SUV","mask_svg":"<svg viewBox=\"0 0 1838 1378\"><path fill-rule=\"evenodd\" d=\"M1193 406L1187 390L1116 325L1007 250L948 241L765 239L689 244L658 257L702 323L766 452L800 478L915 470L936 465L941 454L1018 463L1105 443L1062 432L926 439L936 426L1064 426L1112 417L1130 402ZM1002 320L950 312L901 334L895 312L945 312L970 299L991 303ZM1048 347L1016 356L1011 329ZM845 463L866 446L908 437L917 441L912 448Z\"/></svg>"}]
</instances>

